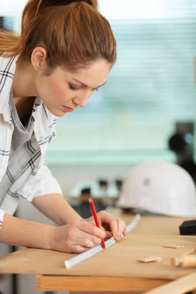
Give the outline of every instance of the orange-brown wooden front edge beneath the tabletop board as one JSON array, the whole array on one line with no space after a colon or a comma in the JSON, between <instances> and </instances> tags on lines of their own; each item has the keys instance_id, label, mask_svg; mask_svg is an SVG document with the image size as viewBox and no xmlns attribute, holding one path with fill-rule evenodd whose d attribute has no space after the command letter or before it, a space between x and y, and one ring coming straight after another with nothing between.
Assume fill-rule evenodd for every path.
<instances>
[{"instance_id":1,"label":"orange-brown wooden front edge beneath the tabletop board","mask_svg":"<svg viewBox=\"0 0 196 294\"><path fill-rule=\"evenodd\" d=\"M36 276L37 291L145 292L171 282L168 279L102 276Z\"/></svg>"}]
</instances>

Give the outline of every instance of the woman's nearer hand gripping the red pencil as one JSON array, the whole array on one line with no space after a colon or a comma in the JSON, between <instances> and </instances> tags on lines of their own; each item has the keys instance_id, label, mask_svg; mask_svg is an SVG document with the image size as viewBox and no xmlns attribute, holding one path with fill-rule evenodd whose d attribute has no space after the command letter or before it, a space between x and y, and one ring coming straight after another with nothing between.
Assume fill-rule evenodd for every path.
<instances>
[{"instance_id":1,"label":"woman's nearer hand gripping the red pencil","mask_svg":"<svg viewBox=\"0 0 196 294\"><path fill-rule=\"evenodd\" d=\"M106 238L105 231L95 222L72 221L60 227L53 227L50 236L50 248L66 253L81 253L85 248L92 248Z\"/></svg>"}]
</instances>

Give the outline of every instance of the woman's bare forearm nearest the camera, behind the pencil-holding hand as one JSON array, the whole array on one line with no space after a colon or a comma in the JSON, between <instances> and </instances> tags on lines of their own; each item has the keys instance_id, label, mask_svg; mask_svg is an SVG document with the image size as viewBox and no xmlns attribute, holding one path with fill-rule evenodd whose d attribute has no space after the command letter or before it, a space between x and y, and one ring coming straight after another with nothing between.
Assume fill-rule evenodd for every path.
<instances>
[{"instance_id":1,"label":"woman's bare forearm nearest the camera, behind the pencil-holding hand","mask_svg":"<svg viewBox=\"0 0 196 294\"><path fill-rule=\"evenodd\" d=\"M0 243L52 249L51 236L55 227L34 221L25 221L4 214L0 228Z\"/></svg>"}]
</instances>

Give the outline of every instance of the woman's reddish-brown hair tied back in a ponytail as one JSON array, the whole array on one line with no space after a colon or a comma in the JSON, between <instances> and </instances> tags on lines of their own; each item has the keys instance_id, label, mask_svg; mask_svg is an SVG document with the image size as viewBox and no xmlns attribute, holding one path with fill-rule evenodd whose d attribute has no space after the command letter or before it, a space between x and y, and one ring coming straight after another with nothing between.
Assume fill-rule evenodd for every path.
<instances>
[{"instance_id":1,"label":"woman's reddish-brown hair tied back in a ponytail","mask_svg":"<svg viewBox=\"0 0 196 294\"><path fill-rule=\"evenodd\" d=\"M28 0L21 34L0 30L0 55L30 62L36 47L47 51L49 69L71 70L104 59L116 61L116 41L108 21L98 12L97 0Z\"/></svg>"}]
</instances>

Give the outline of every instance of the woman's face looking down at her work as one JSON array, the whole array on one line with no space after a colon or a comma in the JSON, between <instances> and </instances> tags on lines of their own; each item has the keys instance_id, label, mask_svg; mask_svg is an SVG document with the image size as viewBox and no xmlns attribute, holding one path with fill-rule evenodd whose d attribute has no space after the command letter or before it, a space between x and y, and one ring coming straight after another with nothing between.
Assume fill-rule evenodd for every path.
<instances>
[{"instance_id":1,"label":"woman's face looking down at her work","mask_svg":"<svg viewBox=\"0 0 196 294\"><path fill-rule=\"evenodd\" d=\"M100 59L74 73L61 67L49 76L37 71L35 86L48 110L57 117L63 117L78 106L85 107L94 91L106 83L110 70L111 65Z\"/></svg>"}]
</instances>

